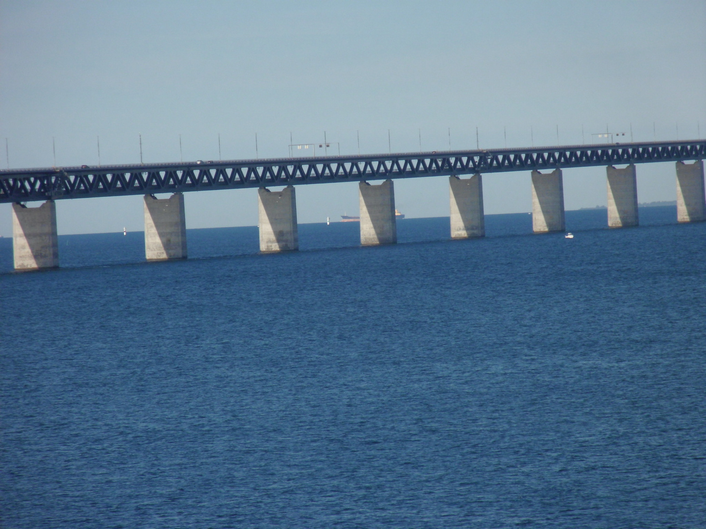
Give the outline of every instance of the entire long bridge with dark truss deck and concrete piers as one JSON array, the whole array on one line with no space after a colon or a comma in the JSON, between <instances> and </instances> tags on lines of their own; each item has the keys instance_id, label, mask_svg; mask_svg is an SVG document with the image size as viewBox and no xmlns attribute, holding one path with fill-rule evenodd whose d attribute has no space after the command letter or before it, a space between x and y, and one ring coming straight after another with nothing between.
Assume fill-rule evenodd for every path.
<instances>
[{"instance_id":1,"label":"entire long bridge with dark truss deck and concrete piers","mask_svg":"<svg viewBox=\"0 0 706 529\"><path fill-rule=\"evenodd\" d=\"M0 171L0 203L13 203L16 269L59 265L55 200L145 196L147 260L186 257L184 196L188 191L258 188L263 252L297 250L294 186L359 182L361 244L395 243L393 179L448 176L452 238L484 236L482 174L532 171L532 229L563 231L562 169L606 166L608 226L638 225L635 164L676 162L677 220L705 217L706 140L562 145L164 164L47 167ZM685 162L693 162L687 164ZM615 165L627 164L625 169ZM544 171L544 173L540 172ZM470 178L460 178L472 175ZM368 181L383 180L378 186ZM274 193L268 187L285 186ZM157 199L157 193L173 193ZM42 200L40 207L23 203Z\"/></svg>"}]
</instances>

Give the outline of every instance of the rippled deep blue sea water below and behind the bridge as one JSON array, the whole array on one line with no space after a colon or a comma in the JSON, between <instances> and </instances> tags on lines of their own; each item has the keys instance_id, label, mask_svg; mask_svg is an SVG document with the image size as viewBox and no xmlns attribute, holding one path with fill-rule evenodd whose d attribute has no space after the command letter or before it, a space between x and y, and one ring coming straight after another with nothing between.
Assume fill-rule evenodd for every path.
<instances>
[{"instance_id":1,"label":"rippled deep blue sea water below and behind the bridge","mask_svg":"<svg viewBox=\"0 0 706 529\"><path fill-rule=\"evenodd\" d=\"M2 528L706 525L706 223L0 239Z\"/></svg>"}]
</instances>

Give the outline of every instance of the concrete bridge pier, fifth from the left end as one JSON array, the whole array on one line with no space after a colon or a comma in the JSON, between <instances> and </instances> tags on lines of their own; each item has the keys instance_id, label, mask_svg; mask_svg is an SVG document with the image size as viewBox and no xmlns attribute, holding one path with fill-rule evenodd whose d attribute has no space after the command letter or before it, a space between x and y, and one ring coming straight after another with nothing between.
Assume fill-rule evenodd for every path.
<instances>
[{"instance_id":1,"label":"concrete bridge pier, fifth from the left end","mask_svg":"<svg viewBox=\"0 0 706 529\"><path fill-rule=\"evenodd\" d=\"M465 239L485 236L483 214L483 177L474 174L461 180L448 177L451 197L451 238Z\"/></svg>"}]
</instances>

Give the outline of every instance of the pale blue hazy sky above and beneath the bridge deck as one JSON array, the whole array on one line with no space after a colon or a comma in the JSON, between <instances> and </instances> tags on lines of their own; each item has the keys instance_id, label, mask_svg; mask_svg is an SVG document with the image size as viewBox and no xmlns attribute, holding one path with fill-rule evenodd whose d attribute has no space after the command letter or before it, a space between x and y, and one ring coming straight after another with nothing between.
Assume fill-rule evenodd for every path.
<instances>
[{"instance_id":1,"label":"pale blue hazy sky above and beneath the bridge deck","mask_svg":"<svg viewBox=\"0 0 706 529\"><path fill-rule=\"evenodd\" d=\"M16 167L706 135L706 1L0 1L0 138ZM2 153L4 154L4 152ZM4 157L2 166L6 165ZM638 166L640 202L673 164ZM566 207L606 203L564 171ZM397 181L409 217L448 215L445 178ZM484 178L486 213L531 207L529 174ZM254 190L186 193L188 228L257 222ZM299 221L357 212L355 184L299 186ZM141 197L57 202L59 233L143 229ZM11 235L8 205L0 235Z\"/></svg>"}]
</instances>

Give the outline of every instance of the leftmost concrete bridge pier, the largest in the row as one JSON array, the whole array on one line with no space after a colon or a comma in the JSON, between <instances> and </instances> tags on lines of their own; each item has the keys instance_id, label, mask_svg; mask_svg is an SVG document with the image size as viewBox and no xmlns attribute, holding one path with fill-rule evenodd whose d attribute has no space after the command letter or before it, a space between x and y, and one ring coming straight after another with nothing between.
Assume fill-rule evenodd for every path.
<instances>
[{"instance_id":1,"label":"leftmost concrete bridge pier, the largest in the row","mask_svg":"<svg viewBox=\"0 0 706 529\"><path fill-rule=\"evenodd\" d=\"M12 250L16 270L59 267L53 200L40 207L12 205Z\"/></svg>"}]
</instances>

